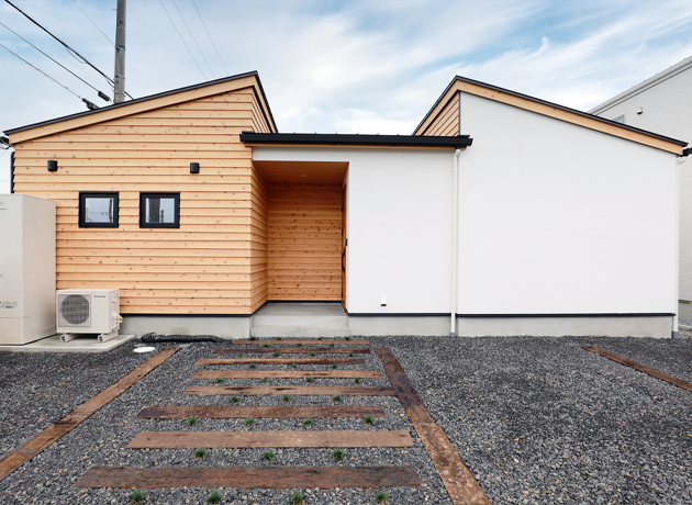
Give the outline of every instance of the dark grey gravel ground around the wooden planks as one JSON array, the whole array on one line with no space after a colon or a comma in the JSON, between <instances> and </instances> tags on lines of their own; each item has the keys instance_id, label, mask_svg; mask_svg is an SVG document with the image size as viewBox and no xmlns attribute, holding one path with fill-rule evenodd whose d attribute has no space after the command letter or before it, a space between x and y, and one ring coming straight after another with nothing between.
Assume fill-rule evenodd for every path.
<instances>
[{"instance_id":1,"label":"dark grey gravel ground around the wooden planks","mask_svg":"<svg viewBox=\"0 0 692 505\"><path fill-rule=\"evenodd\" d=\"M391 347L423 396L432 416L477 475L491 502L500 503L692 503L692 393L580 349L593 345L692 381L692 341L633 338L371 338ZM135 343L107 355L0 354L0 454L57 420L152 355L132 352ZM158 348L163 348L159 345ZM234 429L409 429L411 449L346 449L335 462L328 449L211 449L196 459L191 449L127 450L142 430L185 430L185 420L135 420L153 404L230 404L230 396L181 396L198 358L227 345L196 344L111 402L77 429L0 483L0 503L127 503L130 492L80 490L77 481L93 465L413 465L424 487L392 489L390 505L450 504L442 481L395 397L344 397L350 405L381 405L387 417L367 427L361 419L201 419L192 430ZM294 355L295 356L295 355ZM297 356L298 357L298 356ZM304 357L304 356L302 356ZM365 367L382 370L375 355ZM243 369L246 367L209 367ZM274 367L258 366L257 369ZM290 367L286 367L290 369ZM311 368L304 367L302 368ZM324 369L325 367L312 367ZM259 380L226 380L259 385ZM269 380L271 384L306 384ZM353 384L315 379L314 385ZM362 385L388 381L361 380ZM242 397L241 404L281 404L280 397ZM332 404L328 396L293 396L293 405ZM38 420L43 417L42 420ZM291 491L222 490L224 504L288 504ZM202 504L209 490L154 490L146 503ZM309 490L310 504L373 503L362 490Z\"/></svg>"}]
</instances>

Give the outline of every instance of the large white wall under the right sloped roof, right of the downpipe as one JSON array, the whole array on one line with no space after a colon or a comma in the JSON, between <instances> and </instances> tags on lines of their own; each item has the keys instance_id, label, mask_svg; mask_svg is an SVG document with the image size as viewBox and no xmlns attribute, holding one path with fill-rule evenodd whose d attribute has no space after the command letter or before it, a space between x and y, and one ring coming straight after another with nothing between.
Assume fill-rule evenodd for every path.
<instances>
[{"instance_id":1,"label":"large white wall under the right sloped roof, right of the downpipe","mask_svg":"<svg viewBox=\"0 0 692 505\"><path fill-rule=\"evenodd\" d=\"M461 131L460 313L674 312L674 155L467 93Z\"/></svg>"}]
</instances>

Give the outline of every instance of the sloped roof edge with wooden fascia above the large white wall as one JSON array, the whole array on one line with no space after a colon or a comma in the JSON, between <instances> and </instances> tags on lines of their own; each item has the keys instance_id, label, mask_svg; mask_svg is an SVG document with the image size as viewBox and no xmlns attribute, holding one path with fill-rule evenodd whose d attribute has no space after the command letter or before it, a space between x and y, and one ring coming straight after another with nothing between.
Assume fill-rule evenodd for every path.
<instances>
[{"instance_id":1,"label":"sloped roof edge with wooden fascia above the large white wall","mask_svg":"<svg viewBox=\"0 0 692 505\"><path fill-rule=\"evenodd\" d=\"M447 102L458 92L476 94L677 155L682 155L682 147L688 145L688 143L683 141L677 141L652 132L647 132L646 130L635 128L634 126L616 123L604 117L578 111L577 109L570 109L535 97L529 97L528 94L518 93L461 76L455 76L449 86L447 86L447 89L445 89L425 117L423 117L423 121L416 126L413 134L420 135L418 132L424 132L429 123L443 111Z\"/></svg>"}]
</instances>

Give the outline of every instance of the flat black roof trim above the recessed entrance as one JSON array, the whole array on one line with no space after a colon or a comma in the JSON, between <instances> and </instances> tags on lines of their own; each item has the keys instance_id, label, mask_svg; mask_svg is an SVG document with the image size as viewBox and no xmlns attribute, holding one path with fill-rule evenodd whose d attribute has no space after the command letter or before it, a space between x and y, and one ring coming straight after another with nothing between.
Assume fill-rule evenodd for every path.
<instances>
[{"instance_id":1,"label":"flat black roof trim above the recessed entrance","mask_svg":"<svg viewBox=\"0 0 692 505\"><path fill-rule=\"evenodd\" d=\"M241 142L248 144L321 144L332 146L468 147L473 143L473 139L469 135L442 137L422 135L243 132L241 133Z\"/></svg>"}]
</instances>

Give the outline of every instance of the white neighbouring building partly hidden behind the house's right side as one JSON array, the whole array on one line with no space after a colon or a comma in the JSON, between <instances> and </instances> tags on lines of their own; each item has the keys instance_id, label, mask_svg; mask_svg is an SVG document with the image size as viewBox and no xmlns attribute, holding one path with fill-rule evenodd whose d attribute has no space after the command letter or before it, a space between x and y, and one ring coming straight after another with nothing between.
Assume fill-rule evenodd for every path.
<instances>
[{"instance_id":1,"label":"white neighbouring building partly hidden behind the house's right side","mask_svg":"<svg viewBox=\"0 0 692 505\"><path fill-rule=\"evenodd\" d=\"M609 120L692 142L692 57L590 111ZM680 317L692 319L692 161L680 164Z\"/></svg>"}]
</instances>

